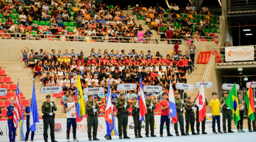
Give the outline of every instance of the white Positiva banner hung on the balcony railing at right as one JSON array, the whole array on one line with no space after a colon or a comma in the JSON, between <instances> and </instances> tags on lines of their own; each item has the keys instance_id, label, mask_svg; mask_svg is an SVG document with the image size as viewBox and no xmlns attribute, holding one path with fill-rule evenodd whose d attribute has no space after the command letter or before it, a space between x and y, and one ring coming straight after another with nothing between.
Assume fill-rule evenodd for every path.
<instances>
[{"instance_id":1,"label":"white Positiva banner hung on the balcony railing at right","mask_svg":"<svg viewBox=\"0 0 256 142\"><path fill-rule=\"evenodd\" d=\"M254 60L253 46L225 47L226 61L248 61Z\"/></svg>"}]
</instances>

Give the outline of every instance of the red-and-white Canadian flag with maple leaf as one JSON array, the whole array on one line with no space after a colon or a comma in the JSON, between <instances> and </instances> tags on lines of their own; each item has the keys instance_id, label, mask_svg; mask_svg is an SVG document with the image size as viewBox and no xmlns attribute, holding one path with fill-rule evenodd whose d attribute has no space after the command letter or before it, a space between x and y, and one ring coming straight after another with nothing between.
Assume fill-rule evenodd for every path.
<instances>
[{"instance_id":1,"label":"red-and-white Canadian flag with maple leaf","mask_svg":"<svg viewBox=\"0 0 256 142\"><path fill-rule=\"evenodd\" d=\"M204 96L204 87L203 87L204 80L199 88L199 91L196 95L196 102L195 104L198 106L198 122L201 122L204 120L204 117L206 116L206 102L205 102L205 96Z\"/></svg>"}]
</instances>

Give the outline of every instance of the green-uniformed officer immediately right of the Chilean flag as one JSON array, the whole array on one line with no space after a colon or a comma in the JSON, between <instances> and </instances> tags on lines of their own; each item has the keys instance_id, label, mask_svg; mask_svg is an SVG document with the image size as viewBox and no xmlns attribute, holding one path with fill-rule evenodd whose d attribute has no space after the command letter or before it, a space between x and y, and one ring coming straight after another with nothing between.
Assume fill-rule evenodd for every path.
<instances>
[{"instance_id":1,"label":"green-uniformed officer immediately right of the Chilean flag","mask_svg":"<svg viewBox=\"0 0 256 142\"><path fill-rule=\"evenodd\" d=\"M180 123L180 131L181 135L186 135L184 132L184 117L183 117L183 107L184 107L184 102L180 98L180 93L176 92L174 93L175 96L175 104L176 104L176 110L177 110L177 119L178 122ZM180 136L178 132L178 122L174 123L174 130L176 136Z\"/></svg>"}]
</instances>

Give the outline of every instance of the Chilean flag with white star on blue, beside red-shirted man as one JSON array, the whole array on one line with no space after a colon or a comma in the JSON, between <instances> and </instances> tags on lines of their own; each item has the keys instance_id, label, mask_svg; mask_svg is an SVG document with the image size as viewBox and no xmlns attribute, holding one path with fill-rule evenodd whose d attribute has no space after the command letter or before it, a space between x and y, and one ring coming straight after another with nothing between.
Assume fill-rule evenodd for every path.
<instances>
[{"instance_id":1,"label":"Chilean flag with white star on blue, beside red-shirted man","mask_svg":"<svg viewBox=\"0 0 256 142\"><path fill-rule=\"evenodd\" d=\"M170 84L172 84L171 80L170 80ZM172 124L178 122L176 103L174 99L174 91L171 85L169 88L169 116L172 117L172 121L171 121Z\"/></svg>"}]
</instances>

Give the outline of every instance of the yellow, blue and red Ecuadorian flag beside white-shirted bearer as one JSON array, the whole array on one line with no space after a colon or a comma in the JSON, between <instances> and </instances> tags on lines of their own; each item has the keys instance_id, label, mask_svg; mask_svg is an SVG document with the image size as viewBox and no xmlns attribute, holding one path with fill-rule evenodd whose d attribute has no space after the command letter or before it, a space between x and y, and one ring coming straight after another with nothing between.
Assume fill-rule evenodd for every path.
<instances>
[{"instance_id":1,"label":"yellow, blue and red Ecuadorian flag beside white-shirted bearer","mask_svg":"<svg viewBox=\"0 0 256 142\"><path fill-rule=\"evenodd\" d=\"M76 93L75 93L75 102L76 102L76 122L81 122L83 120L83 115L85 114L85 106L83 100L83 90L80 81L80 75L76 82Z\"/></svg>"}]
</instances>

